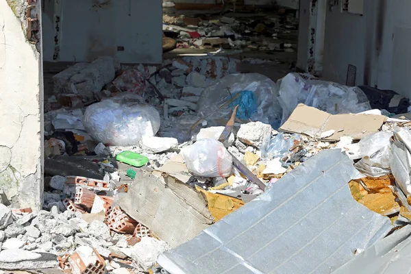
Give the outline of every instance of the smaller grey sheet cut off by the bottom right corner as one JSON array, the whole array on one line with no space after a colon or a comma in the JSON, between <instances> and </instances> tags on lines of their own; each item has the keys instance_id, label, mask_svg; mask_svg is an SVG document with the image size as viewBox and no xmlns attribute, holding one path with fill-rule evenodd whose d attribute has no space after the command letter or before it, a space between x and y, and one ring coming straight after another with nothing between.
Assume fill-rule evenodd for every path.
<instances>
[{"instance_id":1,"label":"smaller grey sheet cut off by the bottom right corner","mask_svg":"<svg viewBox=\"0 0 411 274\"><path fill-rule=\"evenodd\" d=\"M407 225L359 253L334 273L399 274L410 273L411 226Z\"/></svg>"}]
</instances>

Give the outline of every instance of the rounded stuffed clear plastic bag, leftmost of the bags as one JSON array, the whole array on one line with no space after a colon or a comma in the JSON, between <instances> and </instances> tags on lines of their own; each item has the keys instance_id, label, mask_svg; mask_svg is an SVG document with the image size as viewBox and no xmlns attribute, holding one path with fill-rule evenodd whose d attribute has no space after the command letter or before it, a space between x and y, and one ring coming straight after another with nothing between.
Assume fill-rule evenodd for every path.
<instances>
[{"instance_id":1,"label":"rounded stuffed clear plastic bag, leftmost of the bags","mask_svg":"<svg viewBox=\"0 0 411 274\"><path fill-rule=\"evenodd\" d=\"M160 114L129 92L95 103L84 112L84 127L96 142L113 146L138 145L143 136L155 136Z\"/></svg>"}]
</instances>

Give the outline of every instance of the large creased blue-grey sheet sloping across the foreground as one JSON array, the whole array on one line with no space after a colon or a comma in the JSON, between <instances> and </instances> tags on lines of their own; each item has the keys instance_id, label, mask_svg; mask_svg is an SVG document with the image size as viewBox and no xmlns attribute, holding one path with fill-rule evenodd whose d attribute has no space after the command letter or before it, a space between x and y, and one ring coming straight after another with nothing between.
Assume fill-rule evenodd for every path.
<instances>
[{"instance_id":1,"label":"large creased blue-grey sheet sloping across the foreground","mask_svg":"<svg viewBox=\"0 0 411 274\"><path fill-rule=\"evenodd\" d=\"M357 176L347 155L321 151L158 264L171 274L330 273L392 228L351 197Z\"/></svg>"}]
</instances>

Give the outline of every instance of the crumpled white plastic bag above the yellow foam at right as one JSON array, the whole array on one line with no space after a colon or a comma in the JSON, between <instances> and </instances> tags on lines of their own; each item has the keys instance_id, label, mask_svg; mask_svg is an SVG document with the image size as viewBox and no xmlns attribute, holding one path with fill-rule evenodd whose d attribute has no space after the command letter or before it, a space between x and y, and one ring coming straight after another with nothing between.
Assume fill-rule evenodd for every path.
<instances>
[{"instance_id":1,"label":"crumpled white plastic bag above the yellow foam at right","mask_svg":"<svg viewBox=\"0 0 411 274\"><path fill-rule=\"evenodd\" d=\"M354 166L361 173L371 177L388 175L390 171L390 138L392 132L377 132L358 142L362 159Z\"/></svg>"}]
</instances>

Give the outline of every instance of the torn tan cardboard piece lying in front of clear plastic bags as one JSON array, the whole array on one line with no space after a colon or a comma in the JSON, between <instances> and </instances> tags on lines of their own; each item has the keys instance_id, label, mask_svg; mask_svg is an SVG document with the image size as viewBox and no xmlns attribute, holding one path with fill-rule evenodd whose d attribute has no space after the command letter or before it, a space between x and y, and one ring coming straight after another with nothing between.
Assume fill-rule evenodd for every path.
<instances>
[{"instance_id":1,"label":"torn tan cardboard piece lying in front of clear plastic bags","mask_svg":"<svg viewBox=\"0 0 411 274\"><path fill-rule=\"evenodd\" d=\"M307 134L313 138L339 141L343 136L354 140L378 132L386 116L366 114L328 114L300 103L290 118L279 129L284 132ZM328 132L334 133L327 136ZM323 138L321 136L323 135Z\"/></svg>"}]
</instances>

